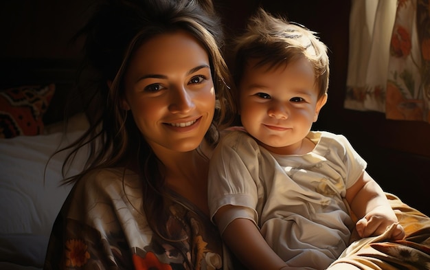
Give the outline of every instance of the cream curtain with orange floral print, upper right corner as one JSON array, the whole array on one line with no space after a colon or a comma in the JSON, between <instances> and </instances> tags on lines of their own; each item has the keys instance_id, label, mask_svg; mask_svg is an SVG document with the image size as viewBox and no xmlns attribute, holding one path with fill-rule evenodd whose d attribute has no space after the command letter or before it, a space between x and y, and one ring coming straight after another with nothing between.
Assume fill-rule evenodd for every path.
<instances>
[{"instance_id":1,"label":"cream curtain with orange floral print, upper right corner","mask_svg":"<svg viewBox=\"0 0 430 270\"><path fill-rule=\"evenodd\" d=\"M430 122L429 0L352 0L346 109Z\"/></svg>"}]
</instances>

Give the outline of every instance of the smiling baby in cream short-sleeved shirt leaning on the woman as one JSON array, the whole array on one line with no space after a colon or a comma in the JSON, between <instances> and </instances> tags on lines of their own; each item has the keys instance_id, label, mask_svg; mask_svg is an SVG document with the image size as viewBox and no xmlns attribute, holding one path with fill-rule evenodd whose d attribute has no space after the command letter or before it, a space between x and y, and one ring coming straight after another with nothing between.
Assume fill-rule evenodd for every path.
<instances>
[{"instance_id":1,"label":"smiling baby in cream short-sleeved shirt leaning on the woman","mask_svg":"<svg viewBox=\"0 0 430 270\"><path fill-rule=\"evenodd\" d=\"M259 10L234 52L243 131L218 144L208 199L236 256L249 269L326 269L354 225L361 237L394 226L391 237L402 239L346 137L310 131L328 97L327 48L315 32Z\"/></svg>"}]
</instances>

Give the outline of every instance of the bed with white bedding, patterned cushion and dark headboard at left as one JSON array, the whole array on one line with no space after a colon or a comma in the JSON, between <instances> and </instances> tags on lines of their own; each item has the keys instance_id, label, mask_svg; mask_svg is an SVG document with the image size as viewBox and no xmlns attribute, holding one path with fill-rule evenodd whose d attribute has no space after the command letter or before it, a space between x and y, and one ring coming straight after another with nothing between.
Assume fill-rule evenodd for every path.
<instances>
[{"instance_id":1,"label":"bed with white bedding, patterned cushion and dark headboard at left","mask_svg":"<svg viewBox=\"0 0 430 270\"><path fill-rule=\"evenodd\" d=\"M63 121L74 64L2 60L0 66L0 269L42 269L52 224L71 189L60 185L65 153L47 161L87 129L87 117L76 106L67 126ZM82 169L85 155L78 153L68 174Z\"/></svg>"}]
</instances>

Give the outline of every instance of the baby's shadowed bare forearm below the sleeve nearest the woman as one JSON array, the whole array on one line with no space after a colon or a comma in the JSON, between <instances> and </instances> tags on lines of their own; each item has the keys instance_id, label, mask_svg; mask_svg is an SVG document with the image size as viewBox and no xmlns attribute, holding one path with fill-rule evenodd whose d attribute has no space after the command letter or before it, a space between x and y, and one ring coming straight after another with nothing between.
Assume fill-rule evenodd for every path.
<instances>
[{"instance_id":1,"label":"baby's shadowed bare forearm below the sleeve nearest the woman","mask_svg":"<svg viewBox=\"0 0 430 270\"><path fill-rule=\"evenodd\" d=\"M222 219L233 205L221 207L215 214L215 222ZM247 269L286 270L285 262L275 254L260 234L256 225L247 218L236 218L225 228L223 240Z\"/></svg>"}]
</instances>

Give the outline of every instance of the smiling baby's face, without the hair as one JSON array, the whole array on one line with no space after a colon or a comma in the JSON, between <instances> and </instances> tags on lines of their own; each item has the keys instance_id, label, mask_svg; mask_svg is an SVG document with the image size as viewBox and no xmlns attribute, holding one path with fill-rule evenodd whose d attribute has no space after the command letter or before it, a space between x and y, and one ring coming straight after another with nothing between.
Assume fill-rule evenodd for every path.
<instances>
[{"instance_id":1,"label":"smiling baby's face, without the hair","mask_svg":"<svg viewBox=\"0 0 430 270\"><path fill-rule=\"evenodd\" d=\"M264 148L295 154L326 102L326 95L318 99L313 66L306 58L271 69L254 63L239 85L242 124Z\"/></svg>"}]
</instances>

